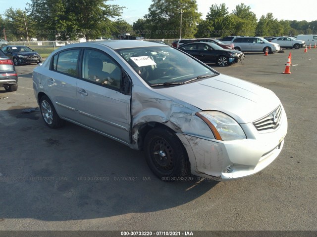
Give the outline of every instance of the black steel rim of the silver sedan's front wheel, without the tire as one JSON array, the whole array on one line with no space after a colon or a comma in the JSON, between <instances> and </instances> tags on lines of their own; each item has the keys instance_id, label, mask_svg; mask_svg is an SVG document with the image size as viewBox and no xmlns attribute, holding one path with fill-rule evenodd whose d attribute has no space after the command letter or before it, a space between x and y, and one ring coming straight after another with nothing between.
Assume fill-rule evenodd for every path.
<instances>
[{"instance_id":1,"label":"black steel rim of the silver sedan's front wheel, without the tire","mask_svg":"<svg viewBox=\"0 0 317 237\"><path fill-rule=\"evenodd\" d=\"M170 173L174 169L174 151L165 139L157 137L152 141L151 157L160 172Z\"/></svg>"}]
</instances>

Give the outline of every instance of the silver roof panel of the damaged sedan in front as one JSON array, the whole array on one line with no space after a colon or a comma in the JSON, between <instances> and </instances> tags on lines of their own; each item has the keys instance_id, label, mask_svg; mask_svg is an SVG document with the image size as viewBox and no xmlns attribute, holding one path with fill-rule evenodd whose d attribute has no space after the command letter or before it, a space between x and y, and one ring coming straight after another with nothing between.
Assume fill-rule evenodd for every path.
<instances>
[{"instance_id":1,"label":"silver roof panel of the damaged sedan in front","mask_svg":"<svg viewBox=\"0 0 317 237\"><path fill-rule=\"evenodd\" d=\"M101 40L101 41L88 41L83 42L81 45L85 44L102 44L112 49L119 49L119 48L134 48L134 47L151 47L151 46L166 46L169 45L158 44L157 42L149 42L149 41L142 41L142 40ZM74 44L73 44L74 45Z\"/></svg>"}]
</instances>

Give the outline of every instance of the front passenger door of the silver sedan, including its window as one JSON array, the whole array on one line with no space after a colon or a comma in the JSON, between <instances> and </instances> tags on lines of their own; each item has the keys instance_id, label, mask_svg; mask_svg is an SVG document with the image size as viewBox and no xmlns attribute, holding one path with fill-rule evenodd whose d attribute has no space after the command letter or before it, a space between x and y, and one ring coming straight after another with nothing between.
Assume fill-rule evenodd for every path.
<instances>
[{"instance_id":1,"label":"front passenger door of the silver sedan, including its window","mask_svg":"<svg viewBox=\"0 0 317 237\"><path fill-rule=\"evenodd\" d=\"M108 137L130 144L130 95L120 92L122 69L105 52L84 49L77 82L79 120Z\"/></svg>"}]
</instances>

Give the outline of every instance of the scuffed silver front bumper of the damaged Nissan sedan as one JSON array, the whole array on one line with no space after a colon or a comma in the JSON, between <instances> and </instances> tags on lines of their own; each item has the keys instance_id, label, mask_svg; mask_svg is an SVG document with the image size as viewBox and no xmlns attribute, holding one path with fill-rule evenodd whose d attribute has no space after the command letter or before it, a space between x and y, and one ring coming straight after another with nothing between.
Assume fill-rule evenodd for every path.
<instances>
[{"instance_id":1,"label":"scuffed silver front bumper of the damaged Nissan sedan","mask_svg":"<svg viewBox=\"0 0 317 237\"><path fill-rule=\"evenodd\" d=\"M218 181L238 179L255 174L280 154L287 133L285 111L279 127L259 132L250 122L241 124L247 139L219 141L179 134L184 143L194 175Z\"/></svg>"}]
</instances>

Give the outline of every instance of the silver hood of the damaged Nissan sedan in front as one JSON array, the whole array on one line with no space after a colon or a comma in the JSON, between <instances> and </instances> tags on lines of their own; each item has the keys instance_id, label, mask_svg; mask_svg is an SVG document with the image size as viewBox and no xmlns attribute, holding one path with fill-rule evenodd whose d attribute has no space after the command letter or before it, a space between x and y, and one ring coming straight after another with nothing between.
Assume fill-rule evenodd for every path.
<instances>
[{"instance_id":1,"label":"silver hood of the damaged Nissan sedan in front","mask_svg":"<svg viewBox=\"0 0 317 237\"><path fill-rule=\"evenodd\" d=\"M200 110L221 111L239 123L262 118L280 104L280 100L272 91L226 75L161 88L157 92L191 104Z\"/></svg>"}]
</instances>

